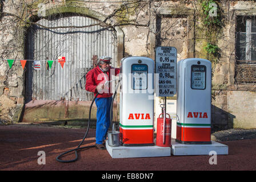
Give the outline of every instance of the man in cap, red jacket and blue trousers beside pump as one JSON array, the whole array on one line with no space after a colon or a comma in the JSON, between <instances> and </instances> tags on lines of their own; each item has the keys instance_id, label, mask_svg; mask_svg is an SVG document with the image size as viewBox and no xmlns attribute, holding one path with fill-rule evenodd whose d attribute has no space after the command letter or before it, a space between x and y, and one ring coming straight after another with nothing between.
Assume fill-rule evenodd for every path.
<instances>
[{"instance_id":1,"label":"man in cap, red jacket and blue trousers beside pump","mask_svg":"<svg viewBox=\"0 0 256 182\"><path fill-rule=\"evenodd\" d=\"M110 125L110 105L113 93L111 92L110 84L105 84L110 81L111 74L118 75L119 68L110 66L111 57L99 57L98 66L91 69L86 75L85 89L94 93L97 106L97 123L96 123L96 143L95 146L100 150L106 150L105 139L107 130Z\"/></svg>"}]
</instances>

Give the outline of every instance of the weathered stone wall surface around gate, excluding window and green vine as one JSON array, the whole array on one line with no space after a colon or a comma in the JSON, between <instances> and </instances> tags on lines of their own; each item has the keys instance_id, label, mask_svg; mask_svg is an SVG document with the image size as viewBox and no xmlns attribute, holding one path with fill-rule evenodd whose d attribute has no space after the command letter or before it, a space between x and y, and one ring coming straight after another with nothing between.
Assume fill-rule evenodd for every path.
<instances>
[{"instance_id":1,"label":"weathered stone wall surface around gate, excluding window and green vine","mask_svg":"<svg viewBox=\"0 0 256 182\"><path fill-rule=\"evenodd\" d=\"M14 3L14 4L12 4ZM30 6L26 6L26 3ZM1 59L24 59L25 27L31 20L55 13L79 13L104 21L118 30L118 59L146 56L154 59L156 46L178 48L178 60L207 59L205 32L198 1L7 1L1 16ZM39 4L42 3L40 6ZM235 82L235 26L237 15L256 15L256 2L222 1L225 26L217 34L221 49L213 64L212 123L217 130L255 128L255 86ZM42 9L43 7L43 9ZM43 11L42 11L43 10ZM19 18L15 18L17 15ZM160 20L161 29L158 30ZM171 26L170 26L171 25ZM161 41L159 40L161 38ZM0 61L0 118L18 122L24 104L25 73L18 61L10 69Z\"/></svg>"}]
</instances>

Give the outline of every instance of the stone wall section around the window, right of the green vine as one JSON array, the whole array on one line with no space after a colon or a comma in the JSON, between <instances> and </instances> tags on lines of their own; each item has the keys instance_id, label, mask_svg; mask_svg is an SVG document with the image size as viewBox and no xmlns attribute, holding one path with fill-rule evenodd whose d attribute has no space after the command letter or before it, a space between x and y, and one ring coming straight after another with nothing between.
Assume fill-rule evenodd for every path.
<instances>
[{"instance_id":1,"label":"stone wall section around the window, right of the green vine","mask_svg":"<svg viewBox=\"0 0 256 182\"><path fill-rule=\"evenodd\" d=\"M235 77L236 19L239 15L256 15L255 8L256 4L252 1L223 3L226 19L218 41L221 57L219 63L213 67L212 80L212 123L215 129L255 128L255 84L239 83Z\"/></svg>"}]
</instances>

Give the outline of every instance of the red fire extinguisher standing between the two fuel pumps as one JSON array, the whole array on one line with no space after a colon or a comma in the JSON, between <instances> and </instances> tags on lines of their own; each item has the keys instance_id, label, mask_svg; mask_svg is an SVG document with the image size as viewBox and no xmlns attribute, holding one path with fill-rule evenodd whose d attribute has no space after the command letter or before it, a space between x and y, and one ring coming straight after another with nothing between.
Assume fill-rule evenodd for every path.
<instances>
[{"instance_id":1,"label":"red fire extinguisher standing between the two fuel pumps","mask_svg":"<svg viewBox=\"0 0 256 182\"><path fill-rule=\"evenodd\" d=\"M160 116L163 115L162 118ZM171 147L171 117L166 118L165 110L157 118L157 140L156 145L159 147Z\"/></svg>"}]
</instances>

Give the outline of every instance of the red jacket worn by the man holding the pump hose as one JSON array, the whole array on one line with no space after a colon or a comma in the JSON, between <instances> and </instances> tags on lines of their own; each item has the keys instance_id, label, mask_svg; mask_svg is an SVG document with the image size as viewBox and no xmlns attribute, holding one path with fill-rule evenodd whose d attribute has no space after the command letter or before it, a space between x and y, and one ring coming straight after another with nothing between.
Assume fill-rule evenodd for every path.
<instances>
[{"instance_id":1,"label":"red jacket worn by the man holding the pump hose","mask_svg":"<svg viewBox=\"0 0 256 182\"><path fill-rule=\"evenodd\" d=\"M109 71L107 71L106 73L103 73L101 69L99 69L99 66L97 66L96 68L91 69L91 71L87 73L85 89L89 92L93 92L95 97L96 94L98 93L96 90L97 85L104 84L106 81L110 81L111 75L116 76L119 74L119 72L120 72L119 68L110 67ZM103 92L102 94L99 94L97 98L111 97L113 93L111 92L110 89L111 88L109 86L109 89L105 89L105 92Z\"/></svg>"}]
</instances>

